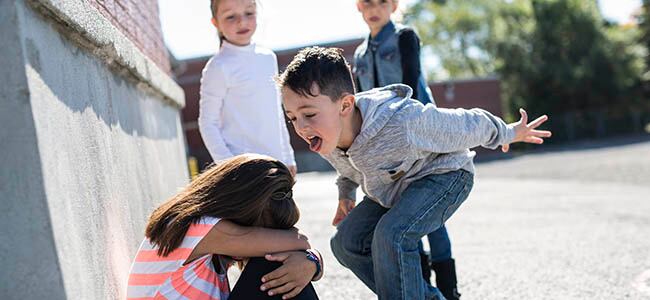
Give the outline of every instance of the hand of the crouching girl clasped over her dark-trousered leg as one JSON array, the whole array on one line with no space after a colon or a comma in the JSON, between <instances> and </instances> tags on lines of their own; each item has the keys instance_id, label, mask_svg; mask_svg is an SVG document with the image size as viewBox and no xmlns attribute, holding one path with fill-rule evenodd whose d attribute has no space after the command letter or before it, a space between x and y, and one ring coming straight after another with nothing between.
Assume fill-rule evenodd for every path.
<instances>
[{"instance_id":1,"label":"hand of the crouching girl clasped over her dark-trousered leg","mask_svg":"<svg viewBox=\"0 0 650 300\"><path fill-rule=\"evenodd\" d=\"M307 259L305 252L290 251L267 254L267 260L282 262L282 266L262 277L262 291L269 296L283 294L282 299L297 296L311 282L316 273L316 265Z\"/></svg>"}]
</instances>

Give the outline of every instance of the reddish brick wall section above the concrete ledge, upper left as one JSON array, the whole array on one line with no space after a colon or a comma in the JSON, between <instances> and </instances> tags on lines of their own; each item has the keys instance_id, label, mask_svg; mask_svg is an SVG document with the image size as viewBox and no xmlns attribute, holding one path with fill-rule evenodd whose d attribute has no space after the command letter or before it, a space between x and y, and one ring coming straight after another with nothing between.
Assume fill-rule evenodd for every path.
<instances>
[{"instance_id":1,"label":"reddish brick wall section above the concrete ledge, upper left","mask_svg":"<svg viewBox=\"0 0 650 300\"><path fill-rule=\"evenodd\" d=\"M157 0L89 0L163 71L171 74Z\"/></svg>"}]
</instances>

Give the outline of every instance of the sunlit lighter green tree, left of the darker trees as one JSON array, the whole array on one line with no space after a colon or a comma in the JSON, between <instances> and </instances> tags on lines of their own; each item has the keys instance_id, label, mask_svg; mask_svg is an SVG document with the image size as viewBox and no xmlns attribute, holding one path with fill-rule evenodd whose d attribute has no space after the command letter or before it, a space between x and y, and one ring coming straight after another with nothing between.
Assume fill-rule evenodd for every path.
<instances>
[{"instance_id":1,"label":"sunlit lighter green tree, left of the darker trees","mask_svg":"<svg viewBox=\"0 0 650 300\"><path fill-rule=\"evenodd\" d=\"M518 74L532 68L530 1L423 0L409 8L405 20L416 27L425 48L440 59L443 70L430 78L498 75L505 102L523 101L525 89Z\"/></svg>"}]
</instances>

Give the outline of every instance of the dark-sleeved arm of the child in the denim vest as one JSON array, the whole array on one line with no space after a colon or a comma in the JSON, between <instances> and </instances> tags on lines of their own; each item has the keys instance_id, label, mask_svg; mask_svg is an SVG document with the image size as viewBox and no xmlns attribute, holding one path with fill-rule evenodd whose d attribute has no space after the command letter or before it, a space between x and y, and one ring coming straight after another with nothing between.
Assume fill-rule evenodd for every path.
<instances>
[{"instance_id":1,"label":"dark-sleeved arm of the child in the denim vest","mask_svg":"<svg viewBox=\"0 0 650 300\"><path fill-rule=\"evenodd\" d=\"M411 28L399 33L399 52L402 60L402 83L413 90L413 99L418 99L418 80L422 72L420 67L420 39Z\"/></svg>"}]
</instances>

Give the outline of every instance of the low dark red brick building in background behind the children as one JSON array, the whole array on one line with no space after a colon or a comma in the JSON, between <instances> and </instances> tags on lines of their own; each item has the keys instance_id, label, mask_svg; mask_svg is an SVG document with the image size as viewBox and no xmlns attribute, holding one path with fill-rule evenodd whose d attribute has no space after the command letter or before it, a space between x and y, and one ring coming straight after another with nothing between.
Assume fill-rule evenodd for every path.
<instances>
[{"instance_id":1,"label":"low dark red brick building in background behind the children","mask_svg":"<svg viewBox=\"0 0 650 300\"><path fill-rule=\"evenodd\" d=\"M323 47L338 47L343 49L345 58L352 62L356 47L363 39L352 39L334 43L320 44ZM284 70L296 53L302 49L292 48L275 51L278 56L280 71ZM199 116L199 89L201 70L210 56L192 58L179 62L176 77L179 85L185 90L185 109L183 110L183 126L187 138L189 155L195 157L200 167L204 167L212 160L203 145L199 133L197 119ZM447 108L484 108L501 116L501 95L499 80L495 78L456 80L431 83L434 99L440 107ZM301 171L327 169L327 163L318 155L311 153L307 144L300 139L289 126L291 144L295 151L298 168Z\"/></svg>"}]
</instances>

